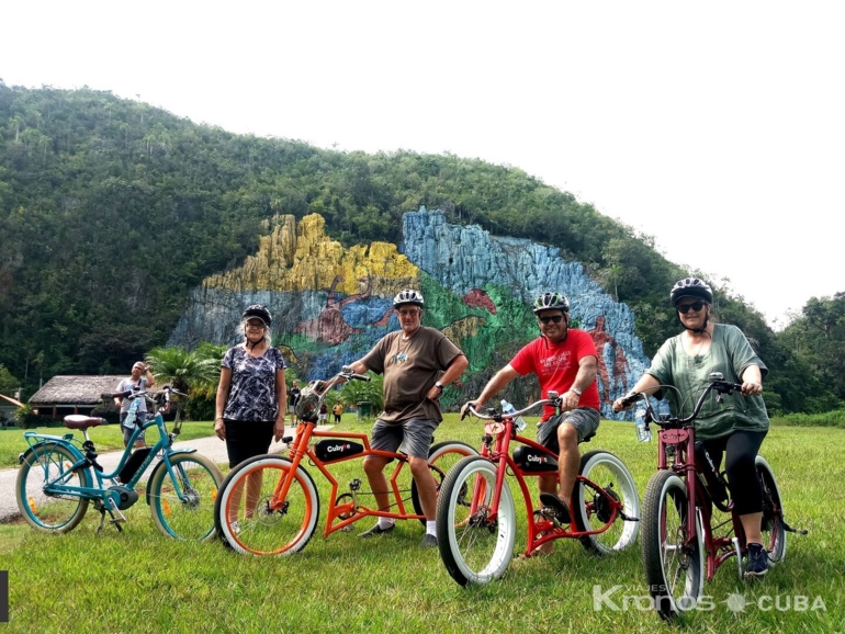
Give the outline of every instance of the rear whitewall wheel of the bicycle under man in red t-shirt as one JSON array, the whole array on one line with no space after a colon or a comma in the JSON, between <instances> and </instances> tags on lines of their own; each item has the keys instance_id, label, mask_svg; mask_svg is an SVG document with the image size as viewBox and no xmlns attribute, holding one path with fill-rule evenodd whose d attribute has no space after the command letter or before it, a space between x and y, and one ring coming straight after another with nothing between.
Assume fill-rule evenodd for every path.
<instances>
[{"instance_id":1,"label":"rear whitewall wheel of the bicycle under man in red t-shirt","mask_svg":"<svg viewBox=\"0 0 845 634\"><path fill-rule=\"evenodd\" d=\"M607 451L590 451L581 458L578 472L585 479L575 483L575 525L579 531L602 531L581 539L597 555L608 555L632 545L640 533L640 498L636 485L621 460ZM613 506L622 505L623 519Z\"/></svg>"}]
</instances>

